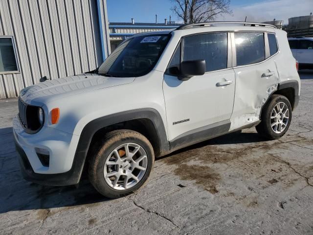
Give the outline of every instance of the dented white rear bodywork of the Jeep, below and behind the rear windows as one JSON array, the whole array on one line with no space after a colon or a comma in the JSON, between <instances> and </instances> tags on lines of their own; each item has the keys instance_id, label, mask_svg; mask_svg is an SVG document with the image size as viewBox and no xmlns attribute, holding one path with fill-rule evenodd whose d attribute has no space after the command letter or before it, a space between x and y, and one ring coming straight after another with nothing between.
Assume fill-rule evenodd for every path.
<instances>
[{"instance_id":1,"label":"dented white rear bodywork of the Jeep, below and behind the rear windows","mask_svg":"<svg viewBox=\"0 0 313 235\"><path fill-rule=\"evenodd\" d=\"M287 88L288 81L296 82L299 86L294 95L297 97L300 95L300 78L289 48L287 34L279 29L275 29L274 32L278 42L277 53L269 56L268 41L265 40L265 51L268 57L266 60L253 65L239 67L234 65L236 90L229 131L258 123L263 106L271 94L279 89L281 83L285 84L284 88ZM290 84L290 87L293 86Z\"/></svg>"}]
</instances>

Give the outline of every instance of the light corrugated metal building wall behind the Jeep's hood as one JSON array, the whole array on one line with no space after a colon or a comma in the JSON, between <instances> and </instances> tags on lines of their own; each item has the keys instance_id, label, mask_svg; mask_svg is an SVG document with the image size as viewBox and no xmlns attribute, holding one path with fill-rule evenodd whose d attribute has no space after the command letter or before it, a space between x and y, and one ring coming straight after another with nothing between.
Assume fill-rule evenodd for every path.
<instances>
[{"instance_id":1,"label":"light corrugated metal building wall behind the Jeep's hood","mask_svg":"<svg viewBox=\"0 0 313 235\"><path fill-rule=\"evenodd\" d=\"M106 14L106 1L100 3ZM44 76L94 70L103 60L99 29L97 0L0 0L0 35L14 36L21 71L0 74L0 98L16 97Z\"/></svg>"}]
</instances>

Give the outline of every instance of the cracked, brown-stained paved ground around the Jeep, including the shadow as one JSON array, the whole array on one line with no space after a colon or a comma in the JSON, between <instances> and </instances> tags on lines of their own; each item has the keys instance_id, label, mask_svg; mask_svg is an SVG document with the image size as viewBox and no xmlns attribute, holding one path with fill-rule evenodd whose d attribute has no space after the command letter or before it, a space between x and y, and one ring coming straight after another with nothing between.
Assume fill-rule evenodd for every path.
<instances>
[{"instance_id":1,"label":"cracked, brown-stained paved ground around the Jeep, including the shadow","mask_svg":"<svg viewBox=\"0 0 313 235\"><path fill-rule=\"evenodd\" d=\"M22 179L11 120L0 100L0 234L313 234L313 71L287 134L264 141L254 128L156 160L136 193L103 198L78 187Z\"/></svg>"}]
</instances>

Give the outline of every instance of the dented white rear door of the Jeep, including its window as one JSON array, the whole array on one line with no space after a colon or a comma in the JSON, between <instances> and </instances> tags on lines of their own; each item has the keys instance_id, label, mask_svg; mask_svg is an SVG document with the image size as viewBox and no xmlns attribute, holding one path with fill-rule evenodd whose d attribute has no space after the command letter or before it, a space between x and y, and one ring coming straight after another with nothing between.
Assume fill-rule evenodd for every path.
<instances>
[{"instance_id":1,"label":"dented white rear door of the Jeep, including its window","mask_svg":"<svg viewBox=\"0 0 313 235\"><path fill-rule=\"evenodd\" d=\"M275 34L235 32L232 39L236 91L230 130L258 121L263 104L279 82Z\"/></svg>"}]
</instances>

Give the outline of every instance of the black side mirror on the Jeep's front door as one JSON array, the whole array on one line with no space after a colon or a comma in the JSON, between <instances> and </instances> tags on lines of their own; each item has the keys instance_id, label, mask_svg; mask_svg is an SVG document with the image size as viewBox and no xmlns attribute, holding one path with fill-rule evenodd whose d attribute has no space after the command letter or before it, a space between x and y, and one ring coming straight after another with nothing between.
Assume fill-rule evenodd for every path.
<instances>
[{"instance_id":1,"label":"black side mirror on the Jeep's front door","mask_svg":"<svg viewBox=\"0 0 313 235\"><path fill-rule=\"evenodd\" d=\"M189 78L205 73L205 60L189 60L180 63L179 80L186 81Z\"/></svg>"}]
</instances>

